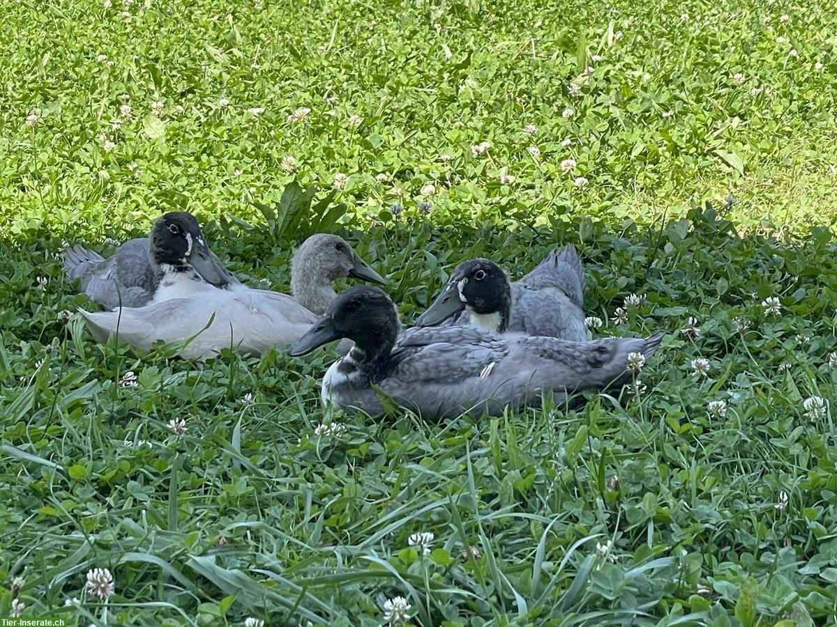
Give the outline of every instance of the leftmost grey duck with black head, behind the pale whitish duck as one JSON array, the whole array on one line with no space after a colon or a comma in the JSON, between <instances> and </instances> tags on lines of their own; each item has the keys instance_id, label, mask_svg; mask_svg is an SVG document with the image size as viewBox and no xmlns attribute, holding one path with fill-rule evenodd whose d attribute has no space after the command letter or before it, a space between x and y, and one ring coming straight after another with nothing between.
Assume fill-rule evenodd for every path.
<instances>
[{"instance_id":1,"label":"leftmost grey duck with black head, behind the pale whitish duck","mask_svg":"<svg viewBox=\"0 0 837 627\"><path fill-rule=\"evenodd\" d=\"M162 230L169 232L172 241L178 239L187 244L184 258L204 281L221 289L240 284L209 250L197 218L188 212L163 214L149 237L131 239L107 258L82 246L68 248L64 251L67 278L79 279L81 291L108 309L141 307L155 299L159 301L166 292L158 293L162 271L155 263L158 255L154 247L165 246L169 241L162 237ZM156 231L159 232L154 237Z\"/></svg>"}]
</instances>

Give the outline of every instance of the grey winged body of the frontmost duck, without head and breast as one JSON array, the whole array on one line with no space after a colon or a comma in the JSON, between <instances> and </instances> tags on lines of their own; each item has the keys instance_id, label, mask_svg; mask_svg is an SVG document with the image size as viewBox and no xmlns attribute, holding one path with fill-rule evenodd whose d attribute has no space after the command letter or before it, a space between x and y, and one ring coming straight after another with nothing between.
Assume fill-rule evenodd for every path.
<instances>
[{"instance_id":1,"label":"grey winged body of the frontmost duck, without head and breast","mask_svg":"<svg viewBox=\"0 0 837 627\"><path fill-rule=\"evenodd\" d=\"M543 393L564 400L573 392L624 385L628 354L649 358L662 337L580 343L469 327L409 329L393 349L392 370L377 385L429 418L498 415L506 407L537 406Z\"/></svg>"}]
</instances>

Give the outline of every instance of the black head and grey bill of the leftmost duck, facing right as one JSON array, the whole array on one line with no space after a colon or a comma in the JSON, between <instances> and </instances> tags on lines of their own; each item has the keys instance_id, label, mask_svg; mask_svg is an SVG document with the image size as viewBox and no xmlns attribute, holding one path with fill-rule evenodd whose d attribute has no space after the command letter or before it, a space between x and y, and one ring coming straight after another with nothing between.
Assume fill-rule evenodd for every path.
<instances>
[{"instance_id":1,"label":"black head and grey bill of the leftmost duck, facing right","mask_svg":"<svg viewBox=\"0 0 837 627\"><path fill-rule=\"evenodd\" d=\"M151 261L158 268L172 266L176 270L192 266L207 283L223 287L233 281L233 275L212 251L198 226L198 220L188 212L169 212L157 218L151 229Z\"/></svg>"}]
</instances>

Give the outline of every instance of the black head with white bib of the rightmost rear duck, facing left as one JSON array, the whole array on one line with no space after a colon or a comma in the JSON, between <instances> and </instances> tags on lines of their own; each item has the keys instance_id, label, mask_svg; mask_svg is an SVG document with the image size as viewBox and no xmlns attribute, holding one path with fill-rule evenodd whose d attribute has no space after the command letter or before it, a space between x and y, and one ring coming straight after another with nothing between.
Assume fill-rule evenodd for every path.
<instances>
[{"instance_id":1,"label":"black head with white bib of the rightmost rear duck, facing left","mask_svg":"<svg viewBox=\"0 0 837 627\"><path fill-rule=\"evenodd\" d=\"M460 263L442 293L416 320L416 326L442 324L463 309L481 329L491 333L508 329L511 284L500 266L488 259Z\"/></svg>"}]
</instances>

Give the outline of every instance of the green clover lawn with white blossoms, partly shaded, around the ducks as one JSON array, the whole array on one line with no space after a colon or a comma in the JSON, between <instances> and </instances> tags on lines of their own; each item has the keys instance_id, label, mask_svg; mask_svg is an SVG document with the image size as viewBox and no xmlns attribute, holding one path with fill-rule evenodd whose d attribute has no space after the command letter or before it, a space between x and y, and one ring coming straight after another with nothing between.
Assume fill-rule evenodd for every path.
<instances>
[{"instance_id":1,"label":"green clover lawn with white blossoms, partly shaded, around the ducks","mask_svg":"<svg viewBox=\"0 0 837 627\"><path fill-rule=\"evenodd\" d=\"M6 3L0 616L837 624L835 27L809 0ZM317 218L278 219L291 181L405 324L461 260L572 242L593 336L670 333L621 396L435 424L326 414L327 351L194 364L72 315L64 242L164 211L286 290Z\"/></svg>"}]
</instances>

